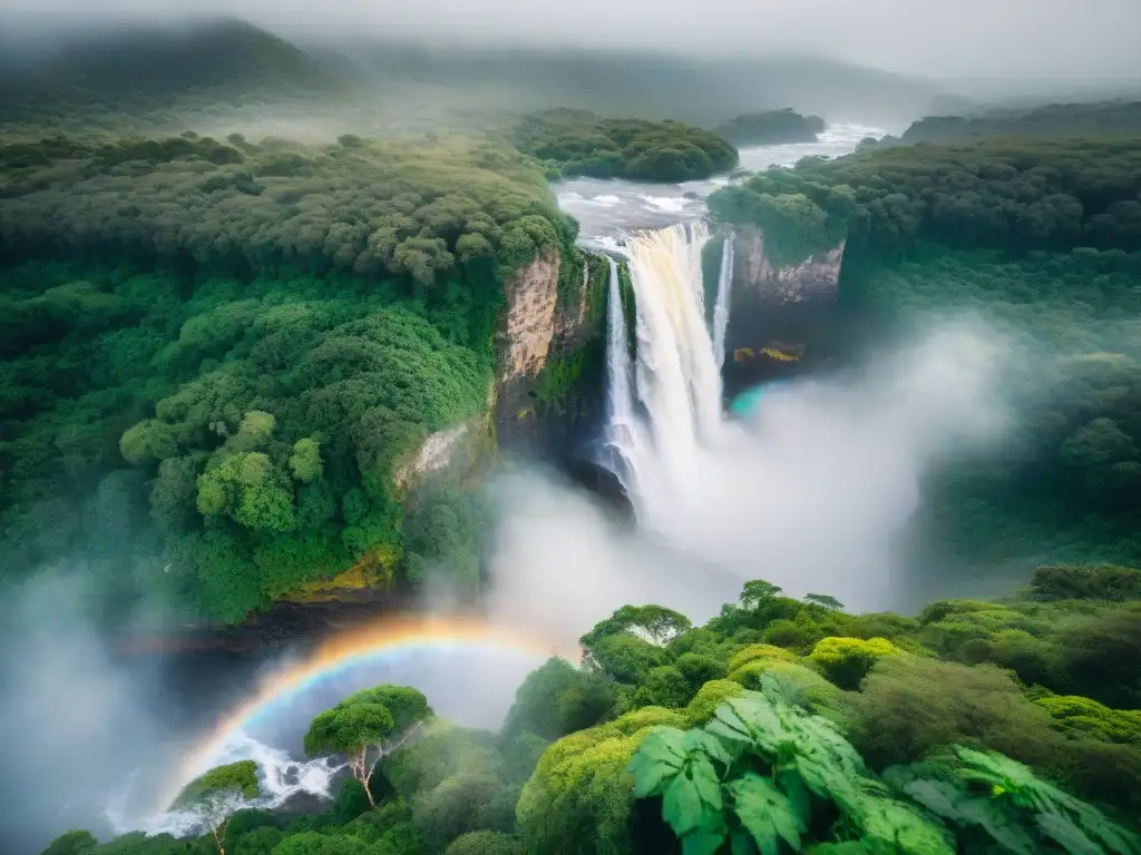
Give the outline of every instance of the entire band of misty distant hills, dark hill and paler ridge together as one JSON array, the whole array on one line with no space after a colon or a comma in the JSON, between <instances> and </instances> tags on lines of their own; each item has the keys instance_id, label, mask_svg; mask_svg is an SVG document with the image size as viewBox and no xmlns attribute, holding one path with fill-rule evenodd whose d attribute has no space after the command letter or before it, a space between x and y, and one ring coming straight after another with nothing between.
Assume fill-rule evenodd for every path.
<instances>
[{"instance_id":1,"label":"entire band of misty distant hills, dark hill and paler ridge together","mask_svg":"<svg viewBox=\"0 0 1141 855\"><path fill-rule=\"evenodd\" d=\"M329 39L319 28L290 39L210 17L67 31L47 15L0 9L0 116L9 133L289 129L314 141L504 128L551 107L715 127L795 104L898 123L932 109L940 95L922 79L822 56L462 44L396 33Z\"/></svg>"}]
</instances>

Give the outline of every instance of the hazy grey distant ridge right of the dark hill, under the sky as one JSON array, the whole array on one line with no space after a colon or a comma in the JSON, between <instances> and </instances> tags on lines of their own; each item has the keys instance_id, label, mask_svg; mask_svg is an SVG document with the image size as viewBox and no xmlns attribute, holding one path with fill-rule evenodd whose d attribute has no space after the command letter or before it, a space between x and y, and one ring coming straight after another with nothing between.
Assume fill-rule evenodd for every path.
<instances>
[{"instance_id":1,"label":"hazy grey distant ridge right of the dark hill, under the sky","mask_svg":"<svg viewBox=\"0 0 1141 855\"><path fill-rule=\"evenodd\" d=\"M717 124L792 106L826 119L906 123L930 112L933 83L825 57L734 58L605 50L480 49L361 41L327 47L386 87L440 87L488 108L567 106Z\"/></svg>"}]
</instances>

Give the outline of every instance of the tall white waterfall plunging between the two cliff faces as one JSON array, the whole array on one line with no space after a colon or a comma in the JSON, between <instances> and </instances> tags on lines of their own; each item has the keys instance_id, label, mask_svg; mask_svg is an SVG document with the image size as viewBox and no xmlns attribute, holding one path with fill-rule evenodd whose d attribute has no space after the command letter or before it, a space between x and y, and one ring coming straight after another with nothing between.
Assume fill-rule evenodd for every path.
<instances>
[{"instance_id":1,"label":"tall white waterfall plunging between the two cliff faces","mask_svg":"<svg viewBox=\"0 0 1141 855\"><path fill-rule=\"evenodd\" d=\"M612 262L608 445L622 459L630 481L623 480L623 486L639 518L649 524L657 515L654 506L683 489L701 465L702 447L722 430L721 373L705 324L702 285L702 247L707 241L704 223L678 223L638 233L621 247L636 301L633 386L617 268ZM728 318L727 291L719 285L722 327Z\"/></svg>"}]
</instances>

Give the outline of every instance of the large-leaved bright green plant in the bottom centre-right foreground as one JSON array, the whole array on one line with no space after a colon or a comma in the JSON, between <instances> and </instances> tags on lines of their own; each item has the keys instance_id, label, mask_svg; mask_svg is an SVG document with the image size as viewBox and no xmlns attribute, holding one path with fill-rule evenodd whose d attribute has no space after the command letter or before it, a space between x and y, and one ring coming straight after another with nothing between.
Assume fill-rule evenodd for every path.
<instances>
[{"instance_id":1,"label":"large-leaved bright green plant in the bottom centre-right foreground","mask_svg":"<svg viewBox=\"0 0 1141 855\"><path fill-rule=\"evenodd\" d=\"M856 829L884 852L954 852L937 823L868 775L834 724L788 703L767 675L761 692L723 701L704 728L650 732L628 771L636 797L662 797L686 855L727 841L735 855L801 852L833 828ZM837 811L844 822L834 822Z\"/></svg>"}]
</instances>

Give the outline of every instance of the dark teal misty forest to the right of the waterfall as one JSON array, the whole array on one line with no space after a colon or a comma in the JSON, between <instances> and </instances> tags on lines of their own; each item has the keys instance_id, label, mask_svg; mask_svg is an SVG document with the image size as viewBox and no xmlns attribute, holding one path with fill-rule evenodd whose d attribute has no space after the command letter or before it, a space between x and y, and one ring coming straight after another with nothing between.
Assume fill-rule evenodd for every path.
<instances>
[{"instance_id":1,"label":"dark teal misty forest to the right of the waterfall","mask_svg":"<svg viewBox=\"0 0 1141 855\"><path fill-rule=\"evenodd\" d=\"M973 310L1026 349L1019 430L931 484L925 532L981 560L1141 560L1141 138L806 158L710 199L778 263L847 237L841 303L880 334Z\"/></svg>"}]
</instances>

